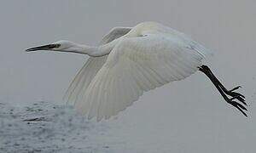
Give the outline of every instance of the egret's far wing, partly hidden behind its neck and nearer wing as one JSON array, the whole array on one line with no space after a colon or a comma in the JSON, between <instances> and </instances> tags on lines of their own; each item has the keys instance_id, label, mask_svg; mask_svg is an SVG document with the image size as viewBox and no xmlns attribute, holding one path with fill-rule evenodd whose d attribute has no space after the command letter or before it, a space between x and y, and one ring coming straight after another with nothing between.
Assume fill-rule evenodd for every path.
<instances>
[{"instance_id":1,"label":"egret's far wing, partly hidden behind its neck and nearer wing","mask_svg":"<svg viewBox=\"0 0 256 153\"><path fill-rule=\"evenodd\" d=\"M130 30L131 28L129 27L115 27L102 38L100 44L112 42L114 39L124 36ZM77 100L81 98L81 96L83 96L91 80L102 68L102 65L105 63L107 58L108 55L102 57L90 57L86 61L84 66L80 69L79 73L76 75L76 77L74 77L73 82L71 82L64 96L64 99L67 100L68 104L73 105Z\"/></svg>"}]
</instances>

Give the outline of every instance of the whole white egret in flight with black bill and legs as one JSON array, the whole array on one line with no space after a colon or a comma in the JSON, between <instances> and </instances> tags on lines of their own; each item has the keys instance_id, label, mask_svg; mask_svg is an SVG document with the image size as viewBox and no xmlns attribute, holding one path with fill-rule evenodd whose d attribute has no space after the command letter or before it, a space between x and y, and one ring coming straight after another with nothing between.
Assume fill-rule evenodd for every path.
<instances>
[{"instance_id":1,"label":"whole white egret in flight with black bill and legs","mask_svg":"<svg viewBox=\"0 0 256 153\"><path fill-rule=\"evenodd\" d=\"M134 27L115 27L97 47L69 41L52 42L26 51L50 50L88 54L83 68L67 89L69 104L97 121L115 116L132 105L143 92L168 82L182 80L196 71L204 72L218 92L245 116L244 96L227 90L202 64L209 49L182 32L155 22ZM229 98L230 96L231 98ZM243 105L234 99L241 101Z\"/></svg>"}]
</instances>

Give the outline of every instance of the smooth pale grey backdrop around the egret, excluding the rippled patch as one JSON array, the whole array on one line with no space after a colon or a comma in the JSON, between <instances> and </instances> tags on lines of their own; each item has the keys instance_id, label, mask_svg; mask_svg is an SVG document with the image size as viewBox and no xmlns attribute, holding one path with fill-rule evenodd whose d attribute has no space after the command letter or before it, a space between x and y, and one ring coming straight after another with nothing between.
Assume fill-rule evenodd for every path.
<instances>
[{"instance_id":1,"label":"smooth pale grey backdrop around the egret, excluding the rippled patch","mask_svg":"<svg viewBox=\"0 0 256 153\"><path fill-rule=\"evenodd\" d=\"M249 117L227 105L197 72L144 94L121 112L124 139L131 146L140 142L167 152L255 152L255 7L254 0L1 1L0 100L61 104L87 59L81 54L28 54L26 48L59 39L96 45L113 26L158 21L214 50L212 71L228 88L243 86Z\"/></svg>"}]
</instances>

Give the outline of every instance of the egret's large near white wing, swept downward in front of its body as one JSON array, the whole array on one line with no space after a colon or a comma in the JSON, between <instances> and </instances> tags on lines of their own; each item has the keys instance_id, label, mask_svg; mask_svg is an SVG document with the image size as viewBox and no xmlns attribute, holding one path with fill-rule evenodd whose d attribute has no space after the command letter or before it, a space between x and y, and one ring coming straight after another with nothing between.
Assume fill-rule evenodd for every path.
<instances>
[{"instance_id":1,"label":"egret's large near white wing, swept downward in front of its body","mask_svg":"<svg viewBox=\"0 0 256 153\"><path fill-rule=\"evenodd\" d=\"M87 88L76 109L97 121L117 115L144 91L189 77L203 56L177 37L149 34L122 38Z\"/></svg>"}]
</instances>

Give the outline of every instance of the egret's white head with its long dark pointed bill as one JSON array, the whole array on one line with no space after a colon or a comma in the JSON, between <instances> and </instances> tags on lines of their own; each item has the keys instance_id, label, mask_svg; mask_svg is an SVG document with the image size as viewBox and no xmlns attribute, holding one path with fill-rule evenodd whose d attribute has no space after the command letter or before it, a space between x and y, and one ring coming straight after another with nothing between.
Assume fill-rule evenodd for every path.
<instances>
[{"instance_id":1,"label":"egret's white head with its long dark pointed bill","mask_svg":"<svg viewBox=\"0 0 256 153\"><path fill-rule=\"evenodd\" d=\"M61 40L57 42L51 42L49 44L38 46L35 48L28 48L26 52L32 52L37 50L53 50L53 51L71 51L77 47L77 44L74 42Z\"/></svg>"}]
</instances>

